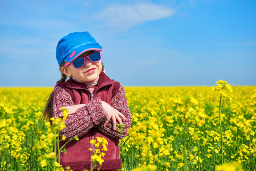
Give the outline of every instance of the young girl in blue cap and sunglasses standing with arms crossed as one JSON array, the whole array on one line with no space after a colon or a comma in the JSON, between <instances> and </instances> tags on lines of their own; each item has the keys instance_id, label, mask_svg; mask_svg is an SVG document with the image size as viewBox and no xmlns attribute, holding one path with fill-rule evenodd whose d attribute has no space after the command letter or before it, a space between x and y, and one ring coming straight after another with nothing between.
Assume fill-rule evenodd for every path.
<instances>
[{"instance_id":1,"label":"young girl in blue cap and sunglasses standing with arms crossed","mask_svg":"<svg viewBox=\"0 0 256 171\"><path fill-rule=\"evenodd\" d=\"M100 170L120 169L120 134L117 124L124 124L122 136L127 135L132 117L127 105L125 91L119 82L108 78L101 62L102 47L88 32L74 32L59 40L56 48L62 78L51 93L44 118L61 116L60 108L68 109L66 128L60 137L66 142L77 135L79 141L66 144L67 153L60 153L60 164L72 170L90 170L92 150L90 144L96 137L108 141ZM67 76L70 78L66 80ZM62 146L65 141L60 141Z\"/></svg>"}]
</instances>

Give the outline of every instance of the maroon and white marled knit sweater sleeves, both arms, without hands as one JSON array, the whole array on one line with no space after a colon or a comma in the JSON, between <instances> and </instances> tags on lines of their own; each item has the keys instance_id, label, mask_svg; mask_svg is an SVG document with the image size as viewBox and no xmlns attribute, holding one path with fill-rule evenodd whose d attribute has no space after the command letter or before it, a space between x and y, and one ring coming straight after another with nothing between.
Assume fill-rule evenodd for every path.
<instances>
[{"instance_id":1,"label":"maroon and white marled knit sweater sleeves, both arms, without hands","mask_svg":"<svg viewBox=\"0 0 256 171\"><path fill-rule=\"evenodd\" d=\"M74 101L72 101L71 95L66 92L64 88L56 86L54 92L53 117L56 118L61 112L59 108L75 104ZM125 128L122 131L122 136L125 137L128 129L131 127L132 117L128 108L123 86L120 86L116 96L112 98L111 105L126 117L126 120L121 118L125 125ZM74 114L67 117L65 121L66 128L60 131L60 136L65 135L67 139L71 139L75 135L81 137L91 128L97 128L107 136L120 139L121 137L118 129L113 130L113 123L111 120L106 127L103 127L105 120L107 120L107 114L101 105L101 100L96 98L88 101L86 106L79 108Z\"/></svg>"}]
</instances>

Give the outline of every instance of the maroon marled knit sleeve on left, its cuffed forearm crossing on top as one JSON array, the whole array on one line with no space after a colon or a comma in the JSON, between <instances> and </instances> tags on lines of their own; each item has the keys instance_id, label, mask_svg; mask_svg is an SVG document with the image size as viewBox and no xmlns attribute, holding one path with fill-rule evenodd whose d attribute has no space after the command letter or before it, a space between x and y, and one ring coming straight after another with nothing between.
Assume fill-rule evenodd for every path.
<instances>
[{"instance_id":1,"label":"maroon marled knit sleeve on left, its cuffed forearm crossing on top","mask_svg":"<svg viewBox=\"0 0 256 171\"><path fill-rule=\"evenodd\" d=\"M62 87L55 87L53 101L53 117L56 119L61 113L63 106L75 105L71 95ZM91 100L84 107L79 108L74 114L68 115L65 120L66 128L60 131L60 136L64 135L71 139L75 135L81 137L92 127L107 120L107 115L101 105L99 98Z\"/></svg>"}]
</instances>

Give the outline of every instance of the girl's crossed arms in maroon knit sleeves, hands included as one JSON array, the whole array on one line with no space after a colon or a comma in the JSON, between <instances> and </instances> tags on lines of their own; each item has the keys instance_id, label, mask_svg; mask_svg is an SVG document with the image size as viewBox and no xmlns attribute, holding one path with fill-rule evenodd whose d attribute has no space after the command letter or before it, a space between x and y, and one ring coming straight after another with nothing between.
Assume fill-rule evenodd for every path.
<instances>
[{"instance_id":1,"label":"girl's crossed arms in maroon knit sleeves, hands included","mask_svg":"<svg viewBox=\"0 0 256 171\"><path fill-rule=\"evenodd\" d=\"M131 127L132 117L127 105L124 88L120 86L119 92L112 99L111 105L99 98L88 101L86 104L75 105L71 96L63 89L56 88L54 96L54 117L61 116L61 107L68 109L70 114L60 135L68 138L75 135L83 136L91 128L97 128L108 136L119 138L116 124L124 124L122 135L126 136Z\"/></svg>"}]
</instances>

